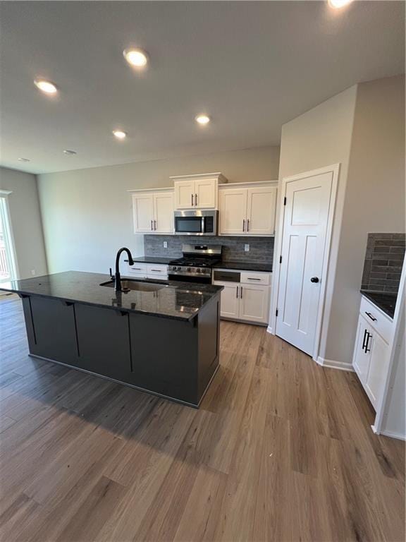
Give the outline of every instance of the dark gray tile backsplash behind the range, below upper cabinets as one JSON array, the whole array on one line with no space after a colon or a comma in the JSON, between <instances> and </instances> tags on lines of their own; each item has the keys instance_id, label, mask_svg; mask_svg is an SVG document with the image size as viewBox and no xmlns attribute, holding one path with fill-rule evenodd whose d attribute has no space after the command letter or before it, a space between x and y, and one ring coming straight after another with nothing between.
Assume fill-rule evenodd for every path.
<instances>
[{"instance_id":1,"label":"dark gray tile backsplash behind the range, below upper cabinets","mask_svg":"<svg viewBox=\"0 0 406 542\"><path fill-rule=\"evenodd\" d=\"M168 248L164 248L164 241ZM144 235L144 250L149 256L180 258L183 243L222 245L225 261L272 263L273 241L273 237ZM250 245L249 252L244 251L246 243Z\"/></svg>"}]
</instances>

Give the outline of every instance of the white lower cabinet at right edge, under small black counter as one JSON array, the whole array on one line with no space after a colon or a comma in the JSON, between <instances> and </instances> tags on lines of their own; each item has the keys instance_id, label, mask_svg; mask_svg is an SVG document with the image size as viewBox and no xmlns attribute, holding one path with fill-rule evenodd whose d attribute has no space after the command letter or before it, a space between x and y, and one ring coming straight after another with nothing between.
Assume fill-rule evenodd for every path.
<instances>
[{"instance_id":1,"label":"white lower cabinet at right edge, under small black counter","mask_svg":"<svg viewBox=\"0 0 406 542\"><path fill-rule=\"evenodd\" d=\"M362 298L352 366L376 409L385 385L392 320Z\"/></svg>"}]
</instances>

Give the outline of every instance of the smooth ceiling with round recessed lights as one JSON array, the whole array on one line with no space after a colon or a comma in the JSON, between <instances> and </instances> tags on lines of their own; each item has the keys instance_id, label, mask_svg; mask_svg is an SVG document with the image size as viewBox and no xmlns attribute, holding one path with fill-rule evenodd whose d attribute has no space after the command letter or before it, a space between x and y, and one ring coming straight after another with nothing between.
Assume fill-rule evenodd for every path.
<instances>
[{"instance_id":1,"label":"smooth ceiling with round recessed lights","mask_svg":"<svg viewBox=\"0 0 406 542\"><path fill-rule=\"evenodd\" d=\"M286 121L359 81L404 71L404 9L1 2L1 164L40 173L278 145ZM149 52L142 74L123 59L130 45ZM59 85L59 97L39 92L37 76ZM206 128L194 121L200 112L212 116Z\"/></svg>"}]
</instances>

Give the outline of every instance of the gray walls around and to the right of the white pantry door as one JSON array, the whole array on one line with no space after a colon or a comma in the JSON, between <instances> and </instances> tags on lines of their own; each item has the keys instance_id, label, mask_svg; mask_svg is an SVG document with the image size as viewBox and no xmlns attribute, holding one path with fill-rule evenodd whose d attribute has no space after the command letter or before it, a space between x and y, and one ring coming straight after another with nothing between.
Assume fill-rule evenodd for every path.
<instances>
[{"instance_id":1,"label":"gray walls around and to the right of the white pantry door","mask_svg":"<svg viewBox=\"0 0 406 542\"><path fill-rule=\"evenodd\" d=\"M282 128L280 179L340 163L320 343L326 360L352 361L368 233L405 231L404 119L397 76L355 85Z\"/></svg>"}]
</instances>

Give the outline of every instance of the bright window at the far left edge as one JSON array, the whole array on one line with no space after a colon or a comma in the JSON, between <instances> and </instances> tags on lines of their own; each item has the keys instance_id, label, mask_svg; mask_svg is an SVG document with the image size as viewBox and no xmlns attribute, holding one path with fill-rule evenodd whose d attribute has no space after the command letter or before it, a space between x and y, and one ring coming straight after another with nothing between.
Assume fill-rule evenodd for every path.
<instances>
[{"instance_id":1,"label":"bright window at the far left edge","mask_svg":"<svg viewBox=\"0 0 406 542\"><path fill-rule=\"evenodd\" d=\"M0 282L17 278L16 258L8 212L8 191L0 191Z\"/></svg>"}]
</instances>

